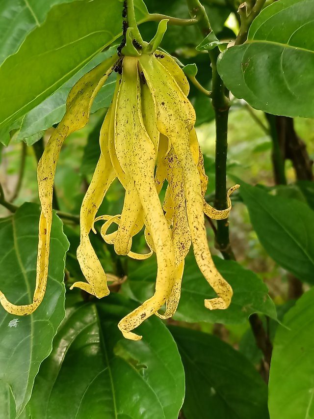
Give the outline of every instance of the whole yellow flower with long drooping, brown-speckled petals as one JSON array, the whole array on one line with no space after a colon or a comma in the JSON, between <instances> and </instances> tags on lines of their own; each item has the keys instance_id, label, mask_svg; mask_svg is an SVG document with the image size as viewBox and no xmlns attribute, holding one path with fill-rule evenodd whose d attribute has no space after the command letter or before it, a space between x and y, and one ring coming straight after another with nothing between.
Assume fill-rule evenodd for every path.
<instances>
[{"instance_id":1,"label":"whole yellow flower with long drooping, brown-speckled petals","mask_svg":"<svg viewBox=\"0 0 314 419\"><path fill-rule=\"evenodd\" d=\"M136 54L135 54L136 55ZM71 90L66 113L49 140L38 165L39 197L42 213L39 223L37 278L33 303L15 306L0 293L2 306L10 313L33 312L43 299L49 261L52 223L52 187L61 145L72 132L88 121L97 92L113 69L118 74L114 97L100 133L101 155L80 210L78 262L87 282L78 287L98 298L109 294L105 271L93 250L89 233L94 223L104 220L101 234L114 245L116 253L144 259L156 253L157 278L154 295L125 316L119 329L129 339L152 314L171 317L179 303L184 259L191 244L197 264L217 297L205 300L209 309L224 309L230 304L232 288L212 261L204 223L204 212L211 218L227 218L229 207L217 211L205 202L208 178L197 141L195 112L187 99L189 84L175 60L160 51L137 56L113 56L86 74ZM121 215L96 217L99 207L115 178L125 189ZM165 199L159 193L167 183ZM117 230L107 234L109 226ZM132 237L145 227L150 251L131 251ZM166 310L158 310L166 304Z\"/></svg>"}]
</instances>

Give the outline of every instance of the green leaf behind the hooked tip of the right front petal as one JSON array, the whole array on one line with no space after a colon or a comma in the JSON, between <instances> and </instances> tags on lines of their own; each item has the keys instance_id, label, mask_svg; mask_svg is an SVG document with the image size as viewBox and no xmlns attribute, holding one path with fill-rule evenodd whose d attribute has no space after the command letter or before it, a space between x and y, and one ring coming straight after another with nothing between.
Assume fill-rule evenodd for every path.
<instances>
[{"instance_id":1,"label":"green leaf behind the hooked tip of the right front petal","mask_svg":"<svg viewBox=\"0 0 314 419\"><path fill-rule=\"evenodd\" d=\"M244 323L252 313L263 313L276 318L276 308L267 295L267 286L252 271L244 269L231 260L214 257L221 275L233 287L231 305L226 310L208 310L204 300L216 294L201 274L194 256L185 260L181 299L174 319L186 322L210 322L223 324ZM144 301L153 295L156 279L156 265L149 259L131 270L124 286L129 288L133 298ZM126 290L127 291L127 290Z\"/></svg>"}]
</instances>

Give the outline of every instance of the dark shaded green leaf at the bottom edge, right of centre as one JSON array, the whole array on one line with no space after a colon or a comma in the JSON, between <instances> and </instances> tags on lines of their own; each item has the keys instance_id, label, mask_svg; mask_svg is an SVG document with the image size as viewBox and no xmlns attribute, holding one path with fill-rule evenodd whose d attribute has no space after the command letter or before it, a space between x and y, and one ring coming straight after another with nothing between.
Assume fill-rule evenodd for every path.
<instances>
[{"instance_id":1,"label":"dark shaded green leaf at the bottom edge, right of centre","mask_svg":"<svg viewBox=\"0 0 314 419\"><path fill-rule=\"evenodd\" d=\"M243 355L215 336L169 329L184 365L186 419L269 418L267 386Z\"/></svg>"}]
</instances>

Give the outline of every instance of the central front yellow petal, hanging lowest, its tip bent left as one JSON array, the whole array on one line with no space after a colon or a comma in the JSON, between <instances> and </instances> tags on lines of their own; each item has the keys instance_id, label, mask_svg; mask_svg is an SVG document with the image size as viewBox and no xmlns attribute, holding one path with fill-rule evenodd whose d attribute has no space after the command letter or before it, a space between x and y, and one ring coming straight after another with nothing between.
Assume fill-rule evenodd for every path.
<instances>
[{"instance_id":1,"label":"central front yellow petal, hanging lowest, its tip bent left","mask_svg":"<svg viewBox=\"0 0 314 419\"><path fill-rule=\"evenodd\" d=\"M115 148L121 167L135 182L145 223L156 249L158 268L153 297L125 316L118 324L123 335L132 340L138 340L141 336L132 333L131 330L154 314L169 297L175 273L173 246L155 187L155 147L141 118L138 77L137 58L125 57L116 111Z\"/></svg>"}]
</instances>

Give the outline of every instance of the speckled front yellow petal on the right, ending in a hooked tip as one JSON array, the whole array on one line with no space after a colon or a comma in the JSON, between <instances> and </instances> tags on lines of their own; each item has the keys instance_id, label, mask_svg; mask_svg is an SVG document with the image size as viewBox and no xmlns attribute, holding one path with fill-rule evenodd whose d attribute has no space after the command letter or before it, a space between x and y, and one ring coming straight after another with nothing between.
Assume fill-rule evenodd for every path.
<instances>
[{"instance_id":1,"label":"speckled front yellow petal on the right, ending in a hooked tip","mask_svg":"<svg viewBox=\"0 0 314 419\"><path fill-rule=\"evenodd\" d=\"M155 98L157 127L169 138L183 168L186 211L197 264L218 297L205 300L210 309L227 308L232 288L217 271L209 251L203 214L203 196L196 164L189 148L189 132L195 123L195 112L186 96L178 89L170 73L160 67L154 56L139 58L141 70Z\"/></svg>"}]
</instances>

